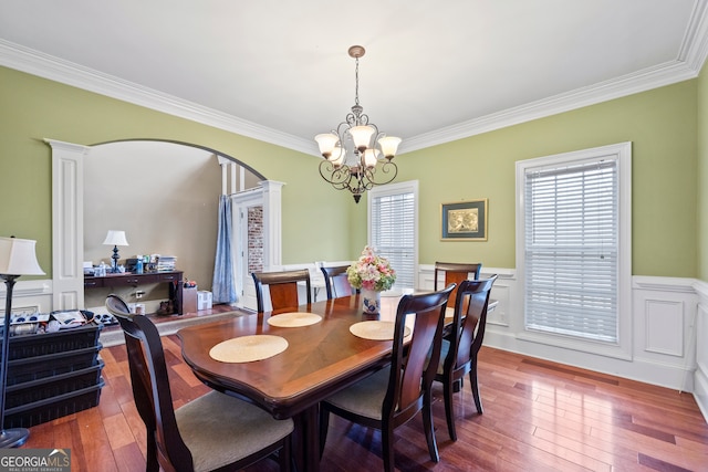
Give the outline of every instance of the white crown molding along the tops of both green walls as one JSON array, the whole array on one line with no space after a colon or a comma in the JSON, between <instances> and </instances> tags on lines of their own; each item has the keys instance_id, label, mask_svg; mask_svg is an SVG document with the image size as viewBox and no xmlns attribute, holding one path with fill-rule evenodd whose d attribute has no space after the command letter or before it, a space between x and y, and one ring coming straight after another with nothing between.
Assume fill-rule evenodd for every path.
<instances>
[{"instance_id":1,"label":"white crown molding along the tops of both green walls","mask_svg":"<svg viewBox=\"0 0 708 472\"><path fill-rule=\"evenodd\" d=\"M708 0L697 0L678 59L525 105L406 138L398 154L464 139L563 112L695 78L708 56ZM0 39L0 65L317 156L313 141L204 107Z\"/></svg>"}]
</instances>

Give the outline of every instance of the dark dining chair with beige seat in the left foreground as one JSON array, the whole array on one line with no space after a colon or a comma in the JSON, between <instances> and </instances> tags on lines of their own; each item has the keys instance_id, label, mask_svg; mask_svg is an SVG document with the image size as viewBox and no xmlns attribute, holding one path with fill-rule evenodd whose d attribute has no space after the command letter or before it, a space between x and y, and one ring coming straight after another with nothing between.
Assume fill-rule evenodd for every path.
<instances>
[{"instance_id":1,"label":"dark dining chair with beige seat in the left foreground","mask_svg":"<svg viewBox=\"0 0 708 472\"><path fill-rule=\"evenodd\" d=\"M133 397L147 429L147 471L240 470L275 453L280 470L290 470L292 420L218 391L175 410L157 328L147 316L125 313L116 295L106 306L125 335Z\"/></svg>"}]
</instances>

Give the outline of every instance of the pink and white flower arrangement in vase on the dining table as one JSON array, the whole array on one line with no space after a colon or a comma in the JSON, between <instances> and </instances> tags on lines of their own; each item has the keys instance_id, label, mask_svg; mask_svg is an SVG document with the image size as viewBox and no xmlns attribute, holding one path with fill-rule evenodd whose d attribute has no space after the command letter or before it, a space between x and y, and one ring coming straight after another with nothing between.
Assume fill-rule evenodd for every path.
<instances>
[{"instance_id":1,"label":"pink and white flower arrangement in vase on the dining table","mask_svg":"<svg viewBox=\"0 0 708 472\"><path fill-rule=\"evenodd\" d=\"M379 293L396 282L396 271L388 259L376 255L372 247L365 247L362 255L346 270L346 277L354 289L362 291L364 313L377 314L381 310Z\"/></svg>"}]
</instances>

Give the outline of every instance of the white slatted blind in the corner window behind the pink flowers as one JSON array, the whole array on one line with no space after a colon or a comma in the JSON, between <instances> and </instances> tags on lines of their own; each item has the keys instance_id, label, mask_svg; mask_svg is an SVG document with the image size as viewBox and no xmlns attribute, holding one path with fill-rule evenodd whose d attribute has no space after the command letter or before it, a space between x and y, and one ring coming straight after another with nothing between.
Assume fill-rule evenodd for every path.
<instances>
[{"instance_id":1,"label":"white slatted blind in the corner window behind the pink flowers","mask_svg":"<svg viewBox=\"0 0 708 472\"><path fill-rule=\"evenodd\" d=\"M374 196L371 244L396 271L396 289L415 289L415 193Z\"/></svg>"}]
</instances>

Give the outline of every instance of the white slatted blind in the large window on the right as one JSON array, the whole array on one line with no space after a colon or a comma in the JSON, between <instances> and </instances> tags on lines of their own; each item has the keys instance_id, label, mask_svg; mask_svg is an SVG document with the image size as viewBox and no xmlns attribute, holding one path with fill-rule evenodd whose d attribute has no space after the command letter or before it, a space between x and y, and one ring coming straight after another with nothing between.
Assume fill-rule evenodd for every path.
<instances>
[{"instance_id":1,"label":"white slatted blind in the large window on the right","mask_svg":"<svg viewBox=\"0 0 708 472\"><path fill-rule=\"evenodd\" d=\"M618 160L525 170L528 329L616 343Z\"/></svg>"}]
</instances>

